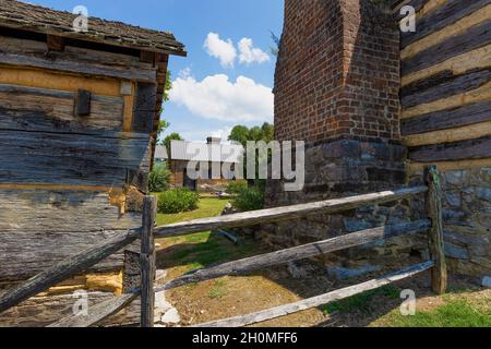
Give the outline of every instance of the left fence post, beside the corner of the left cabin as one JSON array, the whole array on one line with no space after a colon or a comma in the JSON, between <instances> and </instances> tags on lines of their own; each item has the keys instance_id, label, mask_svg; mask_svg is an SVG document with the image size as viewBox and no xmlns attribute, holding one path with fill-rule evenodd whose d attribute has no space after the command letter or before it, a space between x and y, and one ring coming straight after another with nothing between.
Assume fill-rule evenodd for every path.
<instances>
[{"instance_id":1,"label":"left fence post, beside the corner of the left cabin","mask_svg":"<svg viewBox=\"0 0 491 349\"><path fill-rule=\"evenodd\" d=\"M143 201L142 238L140 251L141 268L141 327L154 327L155 244L154 226L157 197L145 196Z\"/></svg>"}]
</instances>

